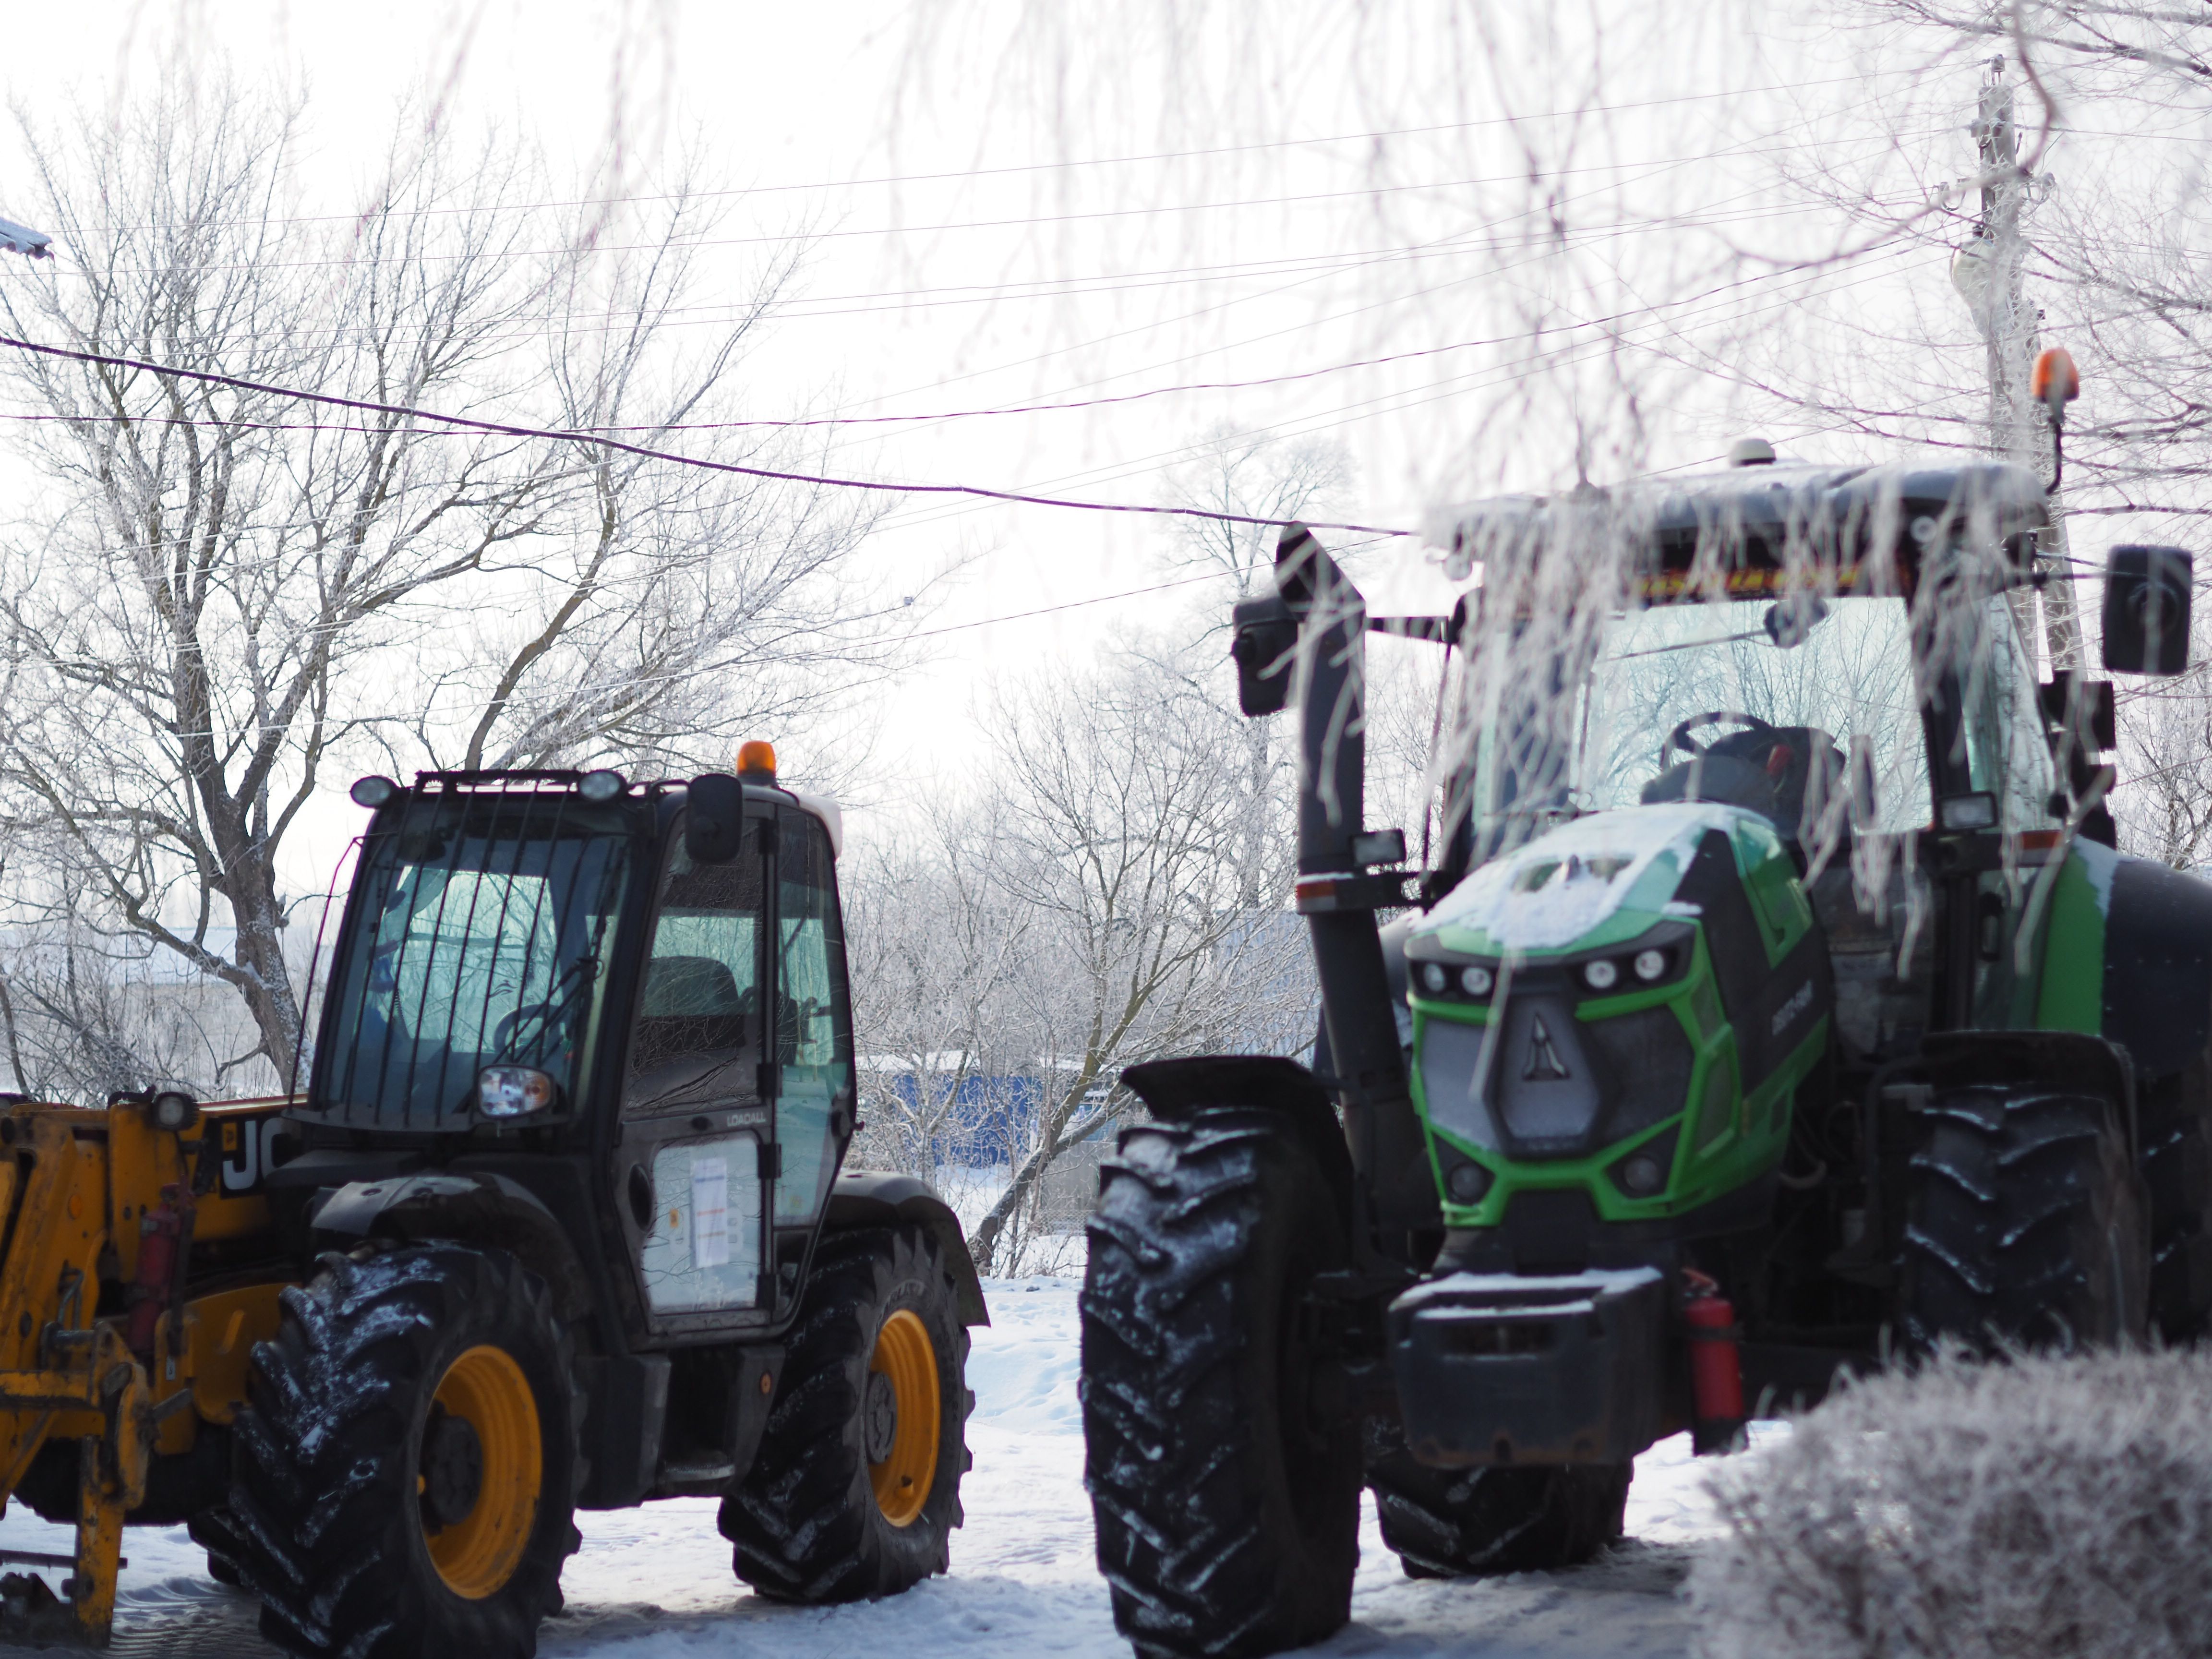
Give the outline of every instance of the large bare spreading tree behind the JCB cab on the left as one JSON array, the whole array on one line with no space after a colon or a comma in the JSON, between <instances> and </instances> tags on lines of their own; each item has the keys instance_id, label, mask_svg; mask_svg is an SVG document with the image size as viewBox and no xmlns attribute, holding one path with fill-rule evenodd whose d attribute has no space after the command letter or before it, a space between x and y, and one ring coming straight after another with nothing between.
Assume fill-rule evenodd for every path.
<instances>
[{"instance_id":1,"label":"large bare spreading tree behind the JCB cab on the left","mask_svg":"<svg viewBox=\"0 0 2212 1659\"><path fill-rule=\"evenodd\" d=\"M374 195L316 217L296 102L173 84L22 126L20 210L69 257L0 290L11 332L380 405L7 363L42 411L11 434L40 489L0 544L7 900L51 918L66 854L104 929L232 987L254 1035L217 1071L283 1077L301 1044L281 867L341 761L721 759L885 666L849 577L865 500L407 411L684 427L686 451L759 465L779 451L699 427L796 246L728 321L677 332L710 228L690 179L606 234L604 204L544 206L575 192L522 146L462 150L403 111Z\"/></svg>"}]
</instances>

